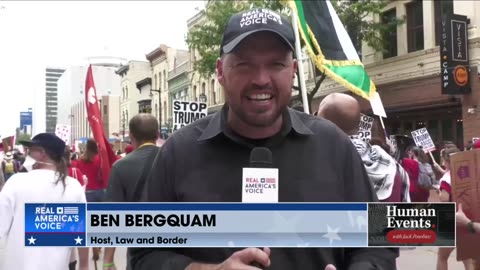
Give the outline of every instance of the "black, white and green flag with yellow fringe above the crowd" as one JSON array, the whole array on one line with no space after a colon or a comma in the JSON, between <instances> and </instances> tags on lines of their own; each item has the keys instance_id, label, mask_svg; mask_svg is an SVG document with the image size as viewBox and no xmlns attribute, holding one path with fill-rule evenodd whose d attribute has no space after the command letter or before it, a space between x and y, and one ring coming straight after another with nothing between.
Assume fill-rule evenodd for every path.
<instances>
[{"instance_id":1,"label":"black, white and green flag with yellow fringe above the crowd","mask_svg":"<svg viewBox=\"0 0 480 270\"><path fill-rule=\"evenodd\" d=\"M330 1L290 0L286 3L297 14L300 37L317 68L370 100L375 94L375 85Z\"/></svg>"}]
</instances>

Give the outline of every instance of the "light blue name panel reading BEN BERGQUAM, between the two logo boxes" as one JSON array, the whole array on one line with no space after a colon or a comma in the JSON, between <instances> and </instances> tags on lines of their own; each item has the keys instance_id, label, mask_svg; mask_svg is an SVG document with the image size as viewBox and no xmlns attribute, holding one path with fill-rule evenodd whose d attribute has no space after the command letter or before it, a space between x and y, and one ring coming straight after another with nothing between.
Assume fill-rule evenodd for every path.
<instances>
[{"instance_id":1,"label":"light blue name panel reading BEN BERGQUAM, between the two logo boxes","mask_svg":"<svg viewBox=\"0 0 480 270\"><path fill-rule=\"evenodd\" d=\"M364 247L366 204L88 204L88 246Z\"/></svg>"}]
</instances>

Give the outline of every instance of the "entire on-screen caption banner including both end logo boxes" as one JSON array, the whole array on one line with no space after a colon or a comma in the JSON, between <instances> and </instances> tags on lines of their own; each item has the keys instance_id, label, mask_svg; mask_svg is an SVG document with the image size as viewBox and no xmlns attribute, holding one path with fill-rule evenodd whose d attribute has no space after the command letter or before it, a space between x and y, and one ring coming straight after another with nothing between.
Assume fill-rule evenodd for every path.
<instances>
[{"instance_id":1,"label":"entire on-screen caption banner including both end logo boxes","mask_svg":"<svg viewBox=\"0 0 480 270\"><path fill-rule=\"evenodd\" d=\"M25 204L25 246L455 246L455 204Z\"/></svg>"}]
</instances>

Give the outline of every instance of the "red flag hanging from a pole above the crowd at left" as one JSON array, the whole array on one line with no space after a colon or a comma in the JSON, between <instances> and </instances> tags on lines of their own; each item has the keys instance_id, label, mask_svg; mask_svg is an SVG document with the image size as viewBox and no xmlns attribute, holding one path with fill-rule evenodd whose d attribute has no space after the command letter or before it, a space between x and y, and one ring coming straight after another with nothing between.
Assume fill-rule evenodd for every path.
<instances>
[{"instance_id":1,"label":"red flag hanging from a pole above the crowd at left","mask_svg":"<svg viewBox=\"0 0 480 270\"><path fill-rule=\"evenodd\" d=\"M106 187L108 177L110 176L110 170L113 163L116 161L116 157L115 153L113 153L113 149L108 143L107 137L105 136L105 131L103 130L103 121L97 99L97 90L93 81L92 65L88 66L87 79L85 81L85 104L93 138L97 141L102 179L104 186Z\"/></svg>"}]
</instances>

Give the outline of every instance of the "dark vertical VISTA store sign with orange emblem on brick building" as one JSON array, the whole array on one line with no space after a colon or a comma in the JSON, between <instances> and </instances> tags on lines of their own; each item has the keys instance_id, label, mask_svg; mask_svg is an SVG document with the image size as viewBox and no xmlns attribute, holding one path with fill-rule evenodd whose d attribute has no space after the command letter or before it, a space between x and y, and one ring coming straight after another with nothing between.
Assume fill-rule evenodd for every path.
<instances>
[{"instance_id":1,"label":"dark vertical VISTA store sign with orange emblem on brick building","mask_svg":"<svg viewBox=\"0 0 480 270\"><path fill-rule=\"evenodd\" d=\"M467 16L449 14L442 17L440 65L442 94L462 95L472 92Z\"/></svg>"}]
</instances>

